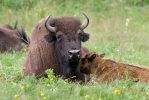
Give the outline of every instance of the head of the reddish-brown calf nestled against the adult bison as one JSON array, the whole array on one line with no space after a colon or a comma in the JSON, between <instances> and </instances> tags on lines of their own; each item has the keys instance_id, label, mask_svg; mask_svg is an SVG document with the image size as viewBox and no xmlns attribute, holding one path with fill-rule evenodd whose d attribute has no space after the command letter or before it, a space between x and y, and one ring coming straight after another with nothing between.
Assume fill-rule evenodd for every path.
<instances>
[{"instance_id":1,"label":"head of the reddish-brown calf nestled against the adult bison","mask_svg":"<svg viewBox=\"0 0 149 100\"><path fill-rule=\"evenodd\" d=\"M104 56L105 53L100 55L95 52L84 54L81 58L80 71L85 74L95 74Z\"/></svg>"}]
</instances>

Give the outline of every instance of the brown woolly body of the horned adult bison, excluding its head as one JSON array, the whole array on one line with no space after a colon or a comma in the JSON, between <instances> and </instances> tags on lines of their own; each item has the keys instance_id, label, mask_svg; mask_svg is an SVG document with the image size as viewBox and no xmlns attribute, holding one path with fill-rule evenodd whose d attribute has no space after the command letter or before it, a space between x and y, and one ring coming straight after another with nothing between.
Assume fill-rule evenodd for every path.
<instances>
[{"instance_id":1,"label":"brown woolly body of the horned adult bison, excluding its head","mask_svg":"<svg viewBox=\"0 0 149 100\"><path fill-rule=\"evenodd\" d=\"M39 21L32 31L29 51L23 65L23 67L26 67L23 70L25 75L46 76L45 70L48 68L52 68L56 74L61 72L56 53L54 52L54 42L48 43L44 39L44 36L48 34L44 26L44 20Z\"/></svg>"}]
</instances>

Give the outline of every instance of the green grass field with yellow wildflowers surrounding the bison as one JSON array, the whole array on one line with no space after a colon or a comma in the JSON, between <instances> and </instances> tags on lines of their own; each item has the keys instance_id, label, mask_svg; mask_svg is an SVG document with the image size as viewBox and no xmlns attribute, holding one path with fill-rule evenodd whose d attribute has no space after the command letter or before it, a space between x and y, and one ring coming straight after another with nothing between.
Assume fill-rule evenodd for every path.
<instances>
[{"instance_id":1,"label":"green grass field with yellow wildflowers surrounding the bison","mask_svg":"<svg viewBox=\"0 0 149 100\"><path fill-rule=\"evenodd\" d=\"M35 24L52 17L77 16L90 24L85 32L89 41L82 45L90 51L106 53L105 58L134 65L149 66L148 0L2 0L0 25L12 26L18 20L30 36ZM27 51L0 54L0 100L149 100L149 84L130 79L110 84L94 81L80 85L54 77L20 80Z\"/></svg>"}]
</instances>

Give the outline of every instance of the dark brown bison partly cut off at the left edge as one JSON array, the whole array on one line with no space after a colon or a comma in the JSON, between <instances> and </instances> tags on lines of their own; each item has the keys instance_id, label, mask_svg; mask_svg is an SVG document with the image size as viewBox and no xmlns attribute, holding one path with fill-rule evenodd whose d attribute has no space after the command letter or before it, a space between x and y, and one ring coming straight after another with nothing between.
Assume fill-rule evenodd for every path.
<instances>
[{"instance_id":1,"label":"dark brown bison partly cut off at the left edge","mask_svg":"<svg viewBox=\"0 0 149 100\"><path fill-rule=\"evenodd\" d=\"M12 28L5 24L0 26L0 52L6 51L21 51L24 45L29 45L29 37L24 31L24 28L17 29L17 22Z\"/></svg>"}]
</instances>

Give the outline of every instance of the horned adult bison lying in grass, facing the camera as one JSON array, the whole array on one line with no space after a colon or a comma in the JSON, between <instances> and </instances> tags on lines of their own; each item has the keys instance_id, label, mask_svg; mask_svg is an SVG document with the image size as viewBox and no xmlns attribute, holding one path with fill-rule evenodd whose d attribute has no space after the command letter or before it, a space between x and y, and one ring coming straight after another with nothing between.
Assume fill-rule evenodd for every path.
<instances>
[{"instance_id":1,"label":"horned adult bison lying in grass, facing the camera","mask_svg":"<svg viewBox=\"0 0 149 100\"><path fill-rule=\"evenodd\" d=\"M76 17L51 18L51 15L36 24L23 65L25 75L46 76L45 71L51 68L64 79L84 78L79 67L81 41L89 39L89 34L83 31L89 19L85 13L83 15L86 18L83 24Z\"/></svg>"}]
</instances>

